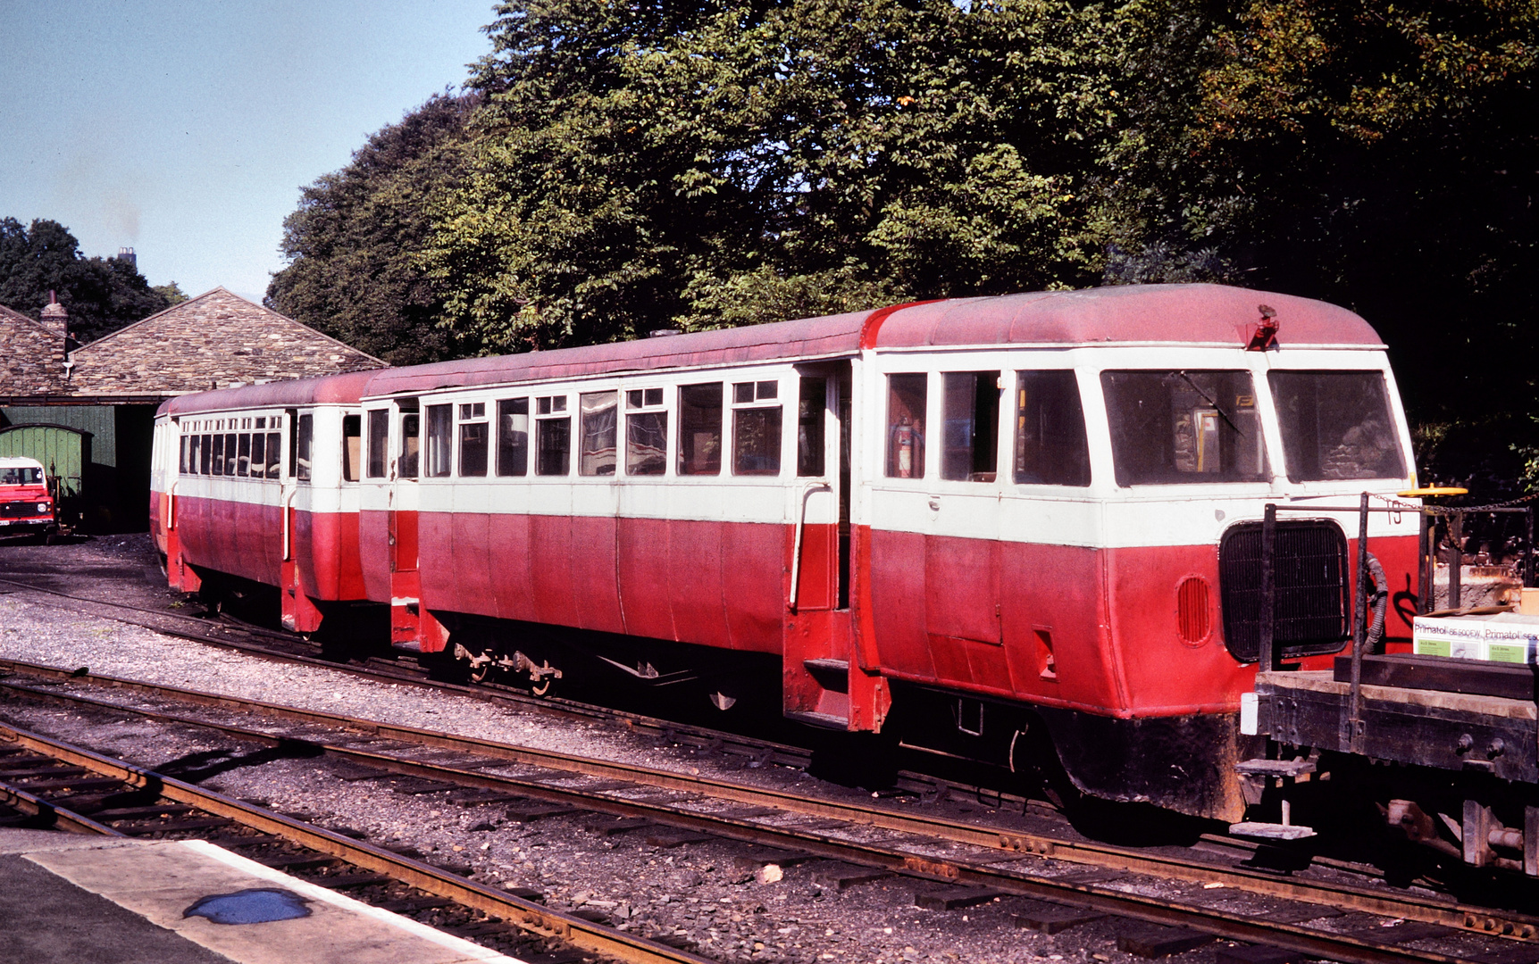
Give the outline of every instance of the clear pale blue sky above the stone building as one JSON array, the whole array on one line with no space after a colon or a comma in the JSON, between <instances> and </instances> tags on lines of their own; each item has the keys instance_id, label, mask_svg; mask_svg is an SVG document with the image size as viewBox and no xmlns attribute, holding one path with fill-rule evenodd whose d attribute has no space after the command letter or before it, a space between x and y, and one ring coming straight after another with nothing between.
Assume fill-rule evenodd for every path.
<instances>
[{"instance_id":1,"label":"clear pale blue sky above the stone building","mask_svg":"<svg viewBox=\"0 0 1539 964\"><path fill-rule=\"evenodd\" d=\"M492 0L0 0L0 217L260 300L299 189L489 51Z\"/></svg>"}]
</instances>

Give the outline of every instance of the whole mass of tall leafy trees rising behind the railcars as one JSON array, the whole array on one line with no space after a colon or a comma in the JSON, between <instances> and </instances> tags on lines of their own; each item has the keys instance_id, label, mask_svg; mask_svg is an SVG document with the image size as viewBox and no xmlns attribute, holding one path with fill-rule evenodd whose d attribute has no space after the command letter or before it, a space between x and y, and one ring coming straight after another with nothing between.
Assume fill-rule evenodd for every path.
<instances>
[{"instance_id":1,"label":"whole mass of tall leafy trees rising behind the railcars","mask_svg":"<svg viewBox=\"0 0 1539 964\"><path fill-rule=\"evenodd\" d=\"M1431 475L1511 474L1539 466L1536 25L1539 0L505 3L474 101L306 189L269 295L414 360L1219 280L1359 311Z\"/></svg>"}]
</instances>

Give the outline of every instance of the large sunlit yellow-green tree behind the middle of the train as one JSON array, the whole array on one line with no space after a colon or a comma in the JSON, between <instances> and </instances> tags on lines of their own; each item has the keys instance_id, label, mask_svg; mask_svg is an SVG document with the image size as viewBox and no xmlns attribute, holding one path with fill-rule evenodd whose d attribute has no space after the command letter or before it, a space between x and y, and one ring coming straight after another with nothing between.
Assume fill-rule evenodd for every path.
<instances>
[{"instance_id":1,"label":"large sunlit yellow-green tree behind the middle of the train","mask_svg":"<svg viewBox=\"0 0 1539 964\"><path fill-rule=\"evenodd\" d=\"M1096 277L1099 8L505 5L423 263L520 351ZM1087 57L1087 51L1090 51Z\"/></svg>"}]
</instances>

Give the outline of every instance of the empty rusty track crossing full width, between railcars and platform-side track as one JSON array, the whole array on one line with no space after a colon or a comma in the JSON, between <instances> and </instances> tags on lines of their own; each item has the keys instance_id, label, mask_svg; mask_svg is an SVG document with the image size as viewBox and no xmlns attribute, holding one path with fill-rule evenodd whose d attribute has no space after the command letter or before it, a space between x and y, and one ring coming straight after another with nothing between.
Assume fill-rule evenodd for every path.
<instances>
[{"instance_id":1,"label":"empty rusty track crossing full width, between railcars and platform-side track","mask_svg":"<svg viewBox=\"0 0 1539 964\"><path fill-rule=\"evenodd\" d=\"M1428 895L1279 876L1190 856L1025 832L1007 823L990 826L905 813L900 806L885 801L813 798L177 687L74 676L15 661L0 666L35 673L38 683L54 683L3 681L15 693L211 727L269 746L280 741L305 744L317 755L354 767L362 778L372 772L377 778L426 780L456 787L469 795L469 803L480 795L482 803L514 809L543 804L608 818L611 826L597 824L597 832L740 841L760 847L765 863L822 858L850 867L851 878L859 872L896 873L919 889L928 887L917 899L928 898L937 906L965 907L1002 895L1028 898L1039 906L1028 907L1025 919L1040 919L1043 927L1074 915L1116 915L1183 929L1188 935L1219 935L1334 961L1477 959L1496 964L1539 959L1539 918L1450 904ZM131 689L205 712L126 707L63 692L58 686L63 680ZM231 720L251 715L272 726L259 729L248 720ZM1157 890L1151 884L1170 881L1190 887L1176 899L1148 895ZM1236 890L1265 898L1268 909L1244 915L1225 910L1224 898ZM1362 921L1353 926L1354 918L1368 916L1374 918L1371 926ZM1405 922L1382 927L1377 918ZM1017 922L1020 919L1017 915ZM1408 947L1456 936L1474 941L1476 949L1442 953Z\"/></svg>"}]
</instances>

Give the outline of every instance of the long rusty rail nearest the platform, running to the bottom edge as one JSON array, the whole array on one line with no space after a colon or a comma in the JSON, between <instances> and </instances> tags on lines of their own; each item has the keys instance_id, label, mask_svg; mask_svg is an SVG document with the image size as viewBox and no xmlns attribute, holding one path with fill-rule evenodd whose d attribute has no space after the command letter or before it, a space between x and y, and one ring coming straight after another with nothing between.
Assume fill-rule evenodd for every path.
<instances>
[{"instance_id":1,"label":"long rusty rail nearest the platform, running to the bottom edge","mask_svg":"<svg viewBox=\"0 0 1539 964\"><path fill-rule=\"evenodd\" d=\"M3 723L0 723L0 740L37 750L38 753L46 753L54 760L86 767L102 773L103 776L122 780L125 784L142 787L168 799L194 806L199 810L206 810L215 816L234 819L235 823L262 833L282 836L311 850L329 853L331 856L357 867L389 875L397 881L436 896L451 899L465 907L482 910L520 929L563 939L593 953L608 955L620 961L634 961L637 964L717 964L711 958L703 958L686 950L669 947L657 941L648 941L645 938L614 930L613 927L605 927L603 924L586 921L580 916L553 910L494 887L468 881L431 864L392 853L383 847L351 839L340 833L274 813L263 807L245 804L225 796L223 793L205 790L203 787L183 783L174 776L155 773L154 770L146 770L122 760L112 760L111 756L103 756L85 747L51 740L40 733L32 733Z\"/></svg>"}]
</instances>

